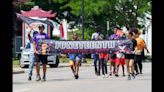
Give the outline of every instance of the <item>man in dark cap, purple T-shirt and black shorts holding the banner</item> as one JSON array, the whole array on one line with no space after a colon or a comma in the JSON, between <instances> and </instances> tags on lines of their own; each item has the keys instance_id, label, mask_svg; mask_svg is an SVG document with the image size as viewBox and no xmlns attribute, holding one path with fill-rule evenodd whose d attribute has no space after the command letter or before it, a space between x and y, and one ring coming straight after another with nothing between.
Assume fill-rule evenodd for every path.
<instances>
[{"instance_id":1,"label":"man in dark cap, purple T-shirt and black shorts holding the banner","mask_svg":"<svg viewBox=\"0 0 164 92\"><path fill-rule=\"evenodd\" d=\"M41 42L45 39L49 39L49 36L44 33L45 27L44 25L39 25L39 33L35 34L33 38L33 46L34 46L34 53L36 57L36 81L41 80L40 77L40 62L43 65L43 81L46 81L46 70L47 70L47 55L42 54L42 46L40 46ZM44 46L45 47L45 46Z\"/></svg>"}]
</instances>

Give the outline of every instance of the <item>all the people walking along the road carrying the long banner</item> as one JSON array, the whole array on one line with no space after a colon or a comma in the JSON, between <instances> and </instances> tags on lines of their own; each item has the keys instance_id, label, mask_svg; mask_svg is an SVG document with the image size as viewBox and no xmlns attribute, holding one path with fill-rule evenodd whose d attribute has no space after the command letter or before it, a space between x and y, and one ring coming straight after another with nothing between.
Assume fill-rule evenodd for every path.
<instances>
[{"instance_id":1,"label":"all the people walking along the road carrying the long banner","mask_svg":"<svg viewBox=\"0 0 164 92\"><path fill-rule=\"evenodd\" d=\"M41 80L40 75L40 62L43 65L43 76L42 80L46 81L46 65L47 65L47 55L41 54L42 48L39 44L42 40L50 39L50 37L44 33L45 27L44 25L39 25L39 32L32 31L28 32L28 38L30 42L30 65L29 65L29 76L28 80L32 80L32 71L34 68L34 64L36 65L36 81ZM96 32L92 34L91 40L121 40L121 39L129 39L133 43L131 54L124 54L120 52L114 53L93 53L94 59L94 69L95 74L97 76L102 76L103 78L107 78L112 76L113 74L118 77L119 76L119 67L122 67L122 75L125 76L125 65L127 66L127 75L128 79L135 78L136 75L142 74L142 60L144 56L144 49L149 53L147 46L142 38L139 37L140 32L136 28L131 28L125 36L117 35L117 30L120 30L118 27L114 28L114 34L112 34L108 39L106 39L102 33L101 28L96 28ZM77 33L73 34L72 40L80 40L79 35ZM68 53L69 54L69 53ZM79 78L79 67L82 61L82 53L71 53L69 54L69 65L73 72L75 79ZM107 63L110 63L109 73ZM139 71L138 71L139 66ZM102 71L102 73L101 73Z\"/></svg>"}]
</instances>

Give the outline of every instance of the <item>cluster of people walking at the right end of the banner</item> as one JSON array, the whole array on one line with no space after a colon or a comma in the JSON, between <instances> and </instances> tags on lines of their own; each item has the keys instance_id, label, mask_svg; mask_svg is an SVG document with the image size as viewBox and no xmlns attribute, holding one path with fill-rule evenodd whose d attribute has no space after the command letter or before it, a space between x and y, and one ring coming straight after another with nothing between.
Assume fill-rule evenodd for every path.
<instances>
[{"instance_id":1,"label":"cluster of people walking at the right end of the banner","mask_svg":"<svg viewBox=\"0 0 164 92\"><path fill-rule=\"evenodd\" d=\"M122 67L122 76L125 76L125 65L127 67L128 80L134 79L136 75L142 74L142 61L144 58L144 49L149 53L147 46L142 38L140 38L140 31L137 28L131 28L125 35L120 36L117 31L121 30L119 27L114 28L114 34L110 35L106 40L123 40L129 39L133 43L132 53L118 50L113 53L94 53L94 69L97 76L107 78L113 74L119 76L119 67ZM105 37L101 34L101 28L97 28L96 32L92 34L92 40L102 40ZM123 53L126 52L126 53ZM109 62L109 73L107 63ZM98 64L98 65L97 65ZM138 71L139 68L139 71ZM102 73L101 73L102 71Z\"/></svg>"}]
</instances>

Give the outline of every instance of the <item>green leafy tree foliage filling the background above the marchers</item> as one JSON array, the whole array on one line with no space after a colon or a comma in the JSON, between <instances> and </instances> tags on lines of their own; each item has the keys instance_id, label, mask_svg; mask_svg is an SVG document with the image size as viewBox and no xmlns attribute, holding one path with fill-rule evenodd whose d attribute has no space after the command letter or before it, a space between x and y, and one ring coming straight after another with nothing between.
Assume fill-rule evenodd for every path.
<instances>
[{"instance_id":1,"label":"green leafy tree foliage filling the background above the marchers","mask_svg":"<svg viewBox=\"0 0 164 92\"><path fill-rule=\"evenodd\" d=\"M17 8L27 10L35 5L57 12L59 19L66 18L68 22L75 21L75 25L81 24L81 0L28 0L20 3ZM69 16L64 16L64 11L68 11ZM139 18L144 19L145 14L150 14L151 0L84 0L84 11L85 29L100 25L106 33L106 21L110 21L110 30L116 25L143 28L144 25L138 23Z\"/></svg>"}]
</instances>

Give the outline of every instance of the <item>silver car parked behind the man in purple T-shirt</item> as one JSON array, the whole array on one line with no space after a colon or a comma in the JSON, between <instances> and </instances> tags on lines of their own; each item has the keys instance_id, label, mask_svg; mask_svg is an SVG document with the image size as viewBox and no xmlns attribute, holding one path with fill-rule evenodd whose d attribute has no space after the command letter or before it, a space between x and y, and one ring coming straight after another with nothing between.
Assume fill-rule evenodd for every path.
<instances>
[{"instance_id":1,"label":"silver car parked behind the man in purple T-shirt","mask_svg":"<svg viewBox=\"0 0 164 92\"><path fill-rule=\"evenodd\" d=\"M19 59L19 64L21 68L28 68L29 66L29 56L30 56L30 49L21 47L21 57ZM48 65L50 68L57 68L59 65L59 56L57 54L50 55L47 57Z\"/></svg>"}]
</instances>

